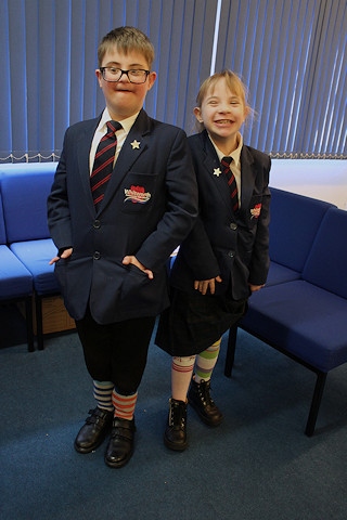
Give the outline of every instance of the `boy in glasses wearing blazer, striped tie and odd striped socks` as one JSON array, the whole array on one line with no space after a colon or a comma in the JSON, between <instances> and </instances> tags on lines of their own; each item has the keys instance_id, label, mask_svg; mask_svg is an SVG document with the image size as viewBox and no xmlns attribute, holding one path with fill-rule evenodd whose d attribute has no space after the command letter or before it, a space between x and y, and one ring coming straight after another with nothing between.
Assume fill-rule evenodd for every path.
<instances>
[{"instance_id":1,"label":"boy in glasses wearing blazer, striped tie and odd striped socks","mask_svg":"<svg viewBox=\"0 0 347 520\"><path fill-rule=\"evenodd\" d=\"M103 38L95 74L106 107L67 129L48 199L59 250L51 263L98 404L75 448L90 453L112 429L105 463L114 468L133 452L138 387L155 316L169 303L166 262L197 212L185 133L142 107L156 79L153 60L137 28Z\"/></svg>"}]
</instances>

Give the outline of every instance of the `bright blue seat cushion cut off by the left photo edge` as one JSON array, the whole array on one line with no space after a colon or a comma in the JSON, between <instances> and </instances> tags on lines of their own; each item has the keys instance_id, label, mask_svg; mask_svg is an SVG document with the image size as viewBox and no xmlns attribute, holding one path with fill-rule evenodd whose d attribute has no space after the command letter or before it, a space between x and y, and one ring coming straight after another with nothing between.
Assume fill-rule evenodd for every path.
<instances>
[{"instance_id":1,"label":"bright blue seat cushion cut off by the left photo edge","mask_svg":"<svg viewBox=\"0 0 347 520\"><path fill-rule=\"evenodd\" d=\"M0 300L30 296L31 273L23 265L8 246L0 246Z\"/></svg>"}]
</instances>

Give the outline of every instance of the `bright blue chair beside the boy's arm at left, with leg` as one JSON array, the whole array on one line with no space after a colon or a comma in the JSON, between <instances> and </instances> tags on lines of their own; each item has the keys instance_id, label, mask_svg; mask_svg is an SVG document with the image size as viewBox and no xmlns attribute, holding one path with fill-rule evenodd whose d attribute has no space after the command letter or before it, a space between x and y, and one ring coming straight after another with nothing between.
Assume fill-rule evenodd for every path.
<instances>
[{"instance_id":1,"label":"bright blue chair beside the boy's arm at left, with leg","mask_svg":"<svg viewBox=\"0 0 347 520\"><path fill-rule=\"evenodd\" d=\"M47 224L47 197L55 169L56 162L0 166L4 240L13 257L31 277L30 294L34 294L39 350L43 349L42 298L60 292L54 268L49 264L56 255L56 248ZM7 266L13 269L13 265L11 258ZM14 282L10 285L15 292Z\"/></svg>"}]
</instances>

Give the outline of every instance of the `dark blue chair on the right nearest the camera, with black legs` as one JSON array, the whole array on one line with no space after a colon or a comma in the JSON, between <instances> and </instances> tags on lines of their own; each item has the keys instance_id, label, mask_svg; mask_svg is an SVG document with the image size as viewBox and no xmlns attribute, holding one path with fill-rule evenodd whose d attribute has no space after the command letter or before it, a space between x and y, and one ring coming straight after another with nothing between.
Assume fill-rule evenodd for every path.
<instances>
[{"instance_id":1,"label":"dark blue chair on the right nearest the camera, with black legs","mask_svg":"<svg viewBox=\"0 0 347 520\"><path fill-rule=\"evenodd\" d=\"M310 198L307 198L307 204L319 208ZM288 222L286 229L292 224ZM280 231L285 236L285 229ZM303 229L295 226L293 235L296 231L303 232ZM346 234L347 211L330 207L324 211L314 236L306 237L309 248L300 277L270 284L255 292L249 298L246 315L239 324L316 373L317 381L305 430L309 437L314 432L327 373L347 363ZM279 235L274 238L282 239ZM294 243L295 239L291 240L286 250L294 248ZM301 249L307 249L304 243ZM295 251L298 257L301 255L296 247L293 255ZM224 368L227 376L231 375L236 327L232 327L231 334ZM229 360L228 355L231 356Z\"/></svg>"}]
</instances>

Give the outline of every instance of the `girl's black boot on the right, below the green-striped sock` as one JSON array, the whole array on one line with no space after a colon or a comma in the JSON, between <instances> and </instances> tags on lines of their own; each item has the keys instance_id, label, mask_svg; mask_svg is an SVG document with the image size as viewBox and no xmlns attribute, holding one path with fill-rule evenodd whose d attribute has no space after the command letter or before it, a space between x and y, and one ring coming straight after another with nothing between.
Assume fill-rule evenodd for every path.
<instances>
[{"instance_id":1,"label":"girl's black boot on the right, below the green-striped sock","mask_svg":"<svg viewBox=\"0 0 347 520\"><path fill-rule=\"evenodd\" d=\"M210 381L202 379L197 384L192 379L191 388L188 392L188 402L206 425L219 426L223 420L222 413L210 396Z\"/></svg>"}]
</instances>

